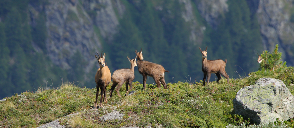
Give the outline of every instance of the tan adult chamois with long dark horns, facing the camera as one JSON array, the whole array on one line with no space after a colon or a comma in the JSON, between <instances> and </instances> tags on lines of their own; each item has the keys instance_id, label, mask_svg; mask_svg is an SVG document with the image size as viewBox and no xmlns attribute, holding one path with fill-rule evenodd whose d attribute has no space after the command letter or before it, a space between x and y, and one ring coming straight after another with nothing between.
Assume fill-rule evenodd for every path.
<instances>
[{"instance_id":1,"label":"tan adult chamois with long dark horns, facing the camera","mask_svg":"<svg viewBox=\"0 0 294 128\"><path fill-rule=\"evenodd\" d=\"M98 54L98 56L99 56L99 54ZM93 109L102 107L103 94L104 94L104 102L107 102L106 87L111 82L111 73L105 63L105 53L102 56L102 51L101 51L101 57L99 56L99 58L98 58L96 55L95 55L95 57L98 60L100 68L97 70L96 75L95 75L95 82L96 82L97 90L96 90L96 101L95 101ZM101 93L100 93L101 98L100 98L100 103L97 107L99 88L101 90Z\"/></svg>"}]
</instances>

